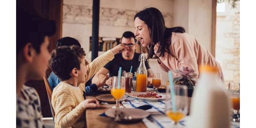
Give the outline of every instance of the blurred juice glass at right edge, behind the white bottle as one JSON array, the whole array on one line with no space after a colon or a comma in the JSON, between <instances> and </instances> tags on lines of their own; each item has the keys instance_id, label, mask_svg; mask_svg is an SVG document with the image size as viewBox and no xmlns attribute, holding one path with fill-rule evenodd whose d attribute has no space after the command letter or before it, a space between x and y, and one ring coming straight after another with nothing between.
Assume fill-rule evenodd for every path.
<instances>
[{"instance_id":1,"label":"blurred juice glass at right edge, behind the white bottle","mask_svg":"<svg viewBox=\"0 0 256 128\"><path fill-rule=\"evenodd\" d=\"M240 83L229 82L229 95L232 103L232 121L240 122Z\"/></svg>"}]
</instances>

